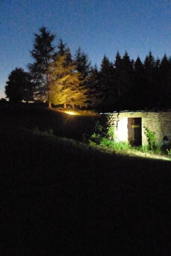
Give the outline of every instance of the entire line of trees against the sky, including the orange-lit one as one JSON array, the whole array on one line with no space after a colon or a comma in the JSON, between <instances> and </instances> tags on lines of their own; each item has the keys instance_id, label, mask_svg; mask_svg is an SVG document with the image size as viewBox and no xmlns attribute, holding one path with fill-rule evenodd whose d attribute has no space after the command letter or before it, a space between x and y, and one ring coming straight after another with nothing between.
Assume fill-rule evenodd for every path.
<instances>
[{"instance_id":1,"label":"entire line of trees against the sky, including the orange-lit one","mask_svg":"<svg viewBox=\"0 0 171 256\"><path fill-rule=\"evenodd\" d=\"M98 111L171 108L171 59L155 59L152 52L142 62L119 52L111 62L104 55L100 68L92 67L79 47L74 57L60 39L45 27L34 35L29 71L15 69L5 88L11 101L22 99L88 106Z\"/></svg>"}]
</instances>

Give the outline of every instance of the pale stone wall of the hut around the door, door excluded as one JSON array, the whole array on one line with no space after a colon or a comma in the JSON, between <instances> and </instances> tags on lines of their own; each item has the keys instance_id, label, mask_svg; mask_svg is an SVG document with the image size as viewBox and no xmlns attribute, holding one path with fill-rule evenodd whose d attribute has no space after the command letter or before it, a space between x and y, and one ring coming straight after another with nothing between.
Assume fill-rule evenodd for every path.
<instances>
[{"instance_id":1,"label":"pale stone wall of the hut around the door, door excluded","mask_svg":"<svg viewBox=\"0 0 171 256\"><path fill-rule=\"evenodd\" d=\"M168 112L114 112L102 114L102 119L106 126L114 126L115 140L127 140L127 118L142 118L142 145L147 144L147 138L144 134L144 126L156 134L156 143L171 143L171 111ZM164 140L163 140L164 138Z\"/></svg>"}]
</instances>

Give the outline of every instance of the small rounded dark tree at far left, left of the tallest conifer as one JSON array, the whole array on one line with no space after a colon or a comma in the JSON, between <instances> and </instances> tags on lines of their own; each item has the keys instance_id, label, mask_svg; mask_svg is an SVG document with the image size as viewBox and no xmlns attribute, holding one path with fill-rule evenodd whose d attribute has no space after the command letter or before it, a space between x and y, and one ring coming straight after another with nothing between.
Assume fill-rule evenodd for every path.
<instances>
[{"instance_id":1,"label":"small rounded dark tree at far left, left of the tallest conifer","mask_svg":"<svg viewBox=\"0 0 171 256\"><path fill-rule=\"evenodd\" d=\"M33 82L31 75L22 68L12 70L5 86L6 98L10 101L33 100Z\"/></svg>"}]
</instances>

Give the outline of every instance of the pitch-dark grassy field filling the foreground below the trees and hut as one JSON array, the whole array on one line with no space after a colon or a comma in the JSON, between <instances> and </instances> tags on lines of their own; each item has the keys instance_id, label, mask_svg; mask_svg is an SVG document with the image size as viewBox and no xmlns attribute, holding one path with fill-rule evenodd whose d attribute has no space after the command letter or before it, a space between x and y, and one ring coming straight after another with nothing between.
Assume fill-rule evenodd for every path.
<instances>
[{"instance_id":1,"label":"pitch-dark grassy field filling the foreground below the trees and hut","mask_svg":"<svg viewBox=\"0 0 171 256\"><path fill-rule=\"evenodd\" d=\"M170 162L35 135L58 115L29 111L0 111L0 255L170 255Z\"/></svg>"}]
</instances>

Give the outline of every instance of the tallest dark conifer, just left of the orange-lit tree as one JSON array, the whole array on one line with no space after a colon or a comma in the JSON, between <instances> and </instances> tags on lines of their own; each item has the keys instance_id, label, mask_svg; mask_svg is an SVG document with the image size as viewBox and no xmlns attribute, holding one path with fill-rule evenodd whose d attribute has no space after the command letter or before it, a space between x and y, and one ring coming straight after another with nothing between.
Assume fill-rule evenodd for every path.
<instances>
[{"instance_id":1,"label":"tallest dark conifer, just left of the orange-lit tree","mask_svg":"<svg viewBox=\"0 0 171 256\"><path fill-rule=\"evenodd\" d=\"M36 84L35 98L46 101L49 97L47 69L53 59L55 35L43 26L39 29L39 34L34 36L33 50L31 51L34 62L29 64L29 69Z\"/></svg>"}]
</instances>

